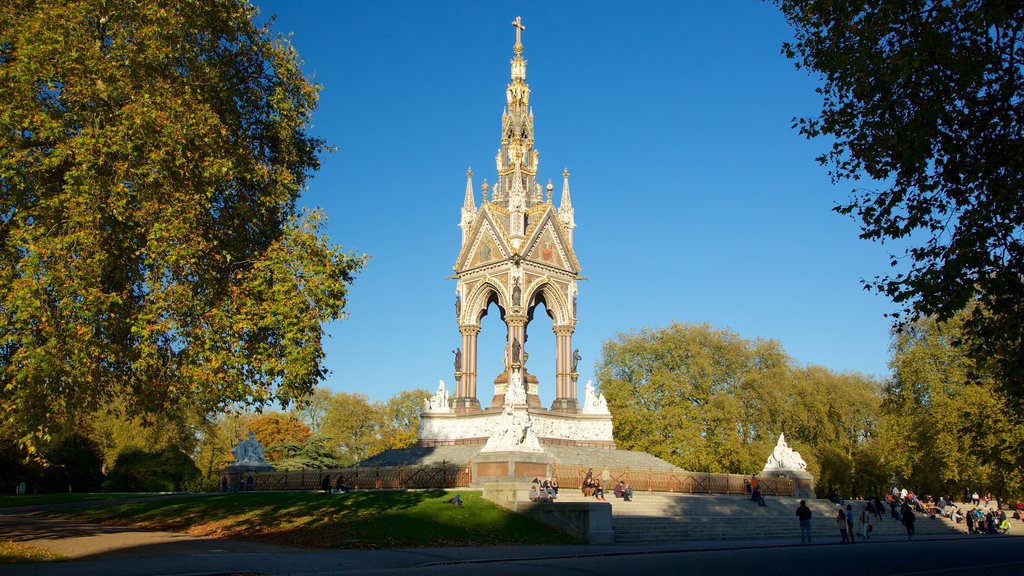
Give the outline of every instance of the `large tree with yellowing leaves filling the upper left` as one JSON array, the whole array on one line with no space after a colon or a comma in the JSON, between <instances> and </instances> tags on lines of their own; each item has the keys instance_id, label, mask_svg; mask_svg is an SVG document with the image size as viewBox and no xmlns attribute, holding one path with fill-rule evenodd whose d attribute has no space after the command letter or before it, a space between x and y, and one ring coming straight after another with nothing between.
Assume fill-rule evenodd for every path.
<instances>
[{"instance_id":1,"label":"large tree with yellowing leaves filling the upper left","mask_svg":"<svg viewBox=\"0 0 1024 576\"><path fill-rule=\"evenodd\" d=\"M288 405L365 263L296 207L317 87L245 0L0 7L0 418Z\"/></svg>"}]
</instances>

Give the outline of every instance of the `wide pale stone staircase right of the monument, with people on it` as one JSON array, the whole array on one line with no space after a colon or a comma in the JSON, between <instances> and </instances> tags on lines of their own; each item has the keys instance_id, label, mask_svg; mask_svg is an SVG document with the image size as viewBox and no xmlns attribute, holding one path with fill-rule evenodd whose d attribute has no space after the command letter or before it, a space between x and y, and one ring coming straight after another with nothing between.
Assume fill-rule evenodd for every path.
<instances>
[{"instance_id":1,"label":"wide pale stone staircase right of the monument, with people on it","mask_svg":"<svg viewBox=\"0 0 1024 576\"><path fill-rule=\"evenodd\" d=\"M594 501L578 490L562 490L559 502ZM766 497L768 504L760 507L745 496L689 495L636 492L630 502L608 492L612 527L616 544L658 544L715 540L791 540L800 541L800 525L796 517L799 498ZM860 518L863 501L847 502ZM836 525L837 507L827 500L808 500L811 508L812 539L816 543L839 542ZM872 520L871 538L905 538L903 525L888 515L881 522ZM859 524L857 524L859 530ZM929 519L918 515L919 536L963 534L963 525L946 519ZM859 541L860 538L857 537Z\"/></svg>"}]
</instances>

